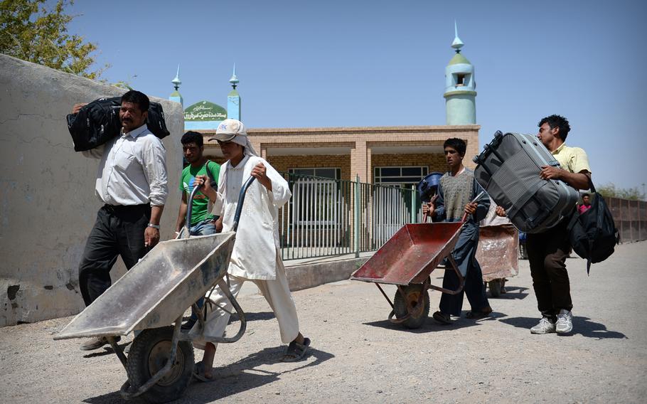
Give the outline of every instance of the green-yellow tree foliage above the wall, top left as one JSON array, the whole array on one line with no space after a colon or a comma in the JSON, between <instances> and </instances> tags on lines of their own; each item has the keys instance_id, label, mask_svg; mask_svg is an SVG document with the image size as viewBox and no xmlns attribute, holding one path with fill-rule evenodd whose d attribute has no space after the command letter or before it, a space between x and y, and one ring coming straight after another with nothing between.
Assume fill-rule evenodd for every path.
<instances>
[{"instance_id":1,"label":"green-yellow tree foliage above the wall, top left","mask_svg":"<svg viewBox=\"0 0 647 404\"><path fill-rule=\"evenodd\" d=\"M96 79L105 68L90 70L95 62L94 43L70 35L65 14L73 0L58 0L46 9L47 0L0 0L0 52L28 62ZM107 66L106 66L107 67Z\"/></svg>"}]
</instances>

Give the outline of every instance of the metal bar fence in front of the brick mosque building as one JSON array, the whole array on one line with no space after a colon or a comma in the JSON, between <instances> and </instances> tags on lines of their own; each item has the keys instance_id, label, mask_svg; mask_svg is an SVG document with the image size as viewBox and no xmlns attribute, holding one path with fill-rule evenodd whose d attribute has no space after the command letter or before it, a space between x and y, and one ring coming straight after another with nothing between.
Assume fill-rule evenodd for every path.
<instances>
[{"instance_id":1,"label":"metal bar fence in front of the brick mosque building","mask_svg":"<svg viewBox=\"0 0 647 404\"><path fill-rule=\"evenodd\" d=\"M414 189L284 174L292 198L279 211L284 260L373 251L419 218Z\"/></svg>"}]
</instances>

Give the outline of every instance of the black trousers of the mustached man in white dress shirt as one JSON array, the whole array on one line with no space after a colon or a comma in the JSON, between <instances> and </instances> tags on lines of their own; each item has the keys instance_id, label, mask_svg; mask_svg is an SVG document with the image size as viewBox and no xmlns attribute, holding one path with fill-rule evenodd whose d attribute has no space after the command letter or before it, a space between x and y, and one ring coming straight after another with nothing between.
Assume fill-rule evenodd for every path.
<instances>
[{"instance_id":1,"label":"black trousers of the mustached man in white dress shirt","mask_svg":"<svg viewBox=\"0 0 647 404\"><path fill-rule=\"evenodd\" d=\"M110 270L117 255L127 269L146 255L144 231L151 218L150 205L104 205L85 243L79 265L79 286L85 306L89 306L112 285Z\"/></svg>"}]
</instances>

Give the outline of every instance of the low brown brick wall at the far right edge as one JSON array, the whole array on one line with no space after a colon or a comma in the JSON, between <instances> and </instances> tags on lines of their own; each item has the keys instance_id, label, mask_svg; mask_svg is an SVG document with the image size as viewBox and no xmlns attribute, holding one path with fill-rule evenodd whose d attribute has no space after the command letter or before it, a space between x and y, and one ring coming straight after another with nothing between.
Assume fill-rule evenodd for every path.
<instances>
[{"instance_id":1,"label":"low brown brick wall at the far right edge","mask_svg":"<svg viewBox=\"0 0 647 404\"><path fill-rule=\"evenodd\" d=\"M620 232L620 243L647 240L647 202L604 198Z\"/></svg>"}]
</instances>

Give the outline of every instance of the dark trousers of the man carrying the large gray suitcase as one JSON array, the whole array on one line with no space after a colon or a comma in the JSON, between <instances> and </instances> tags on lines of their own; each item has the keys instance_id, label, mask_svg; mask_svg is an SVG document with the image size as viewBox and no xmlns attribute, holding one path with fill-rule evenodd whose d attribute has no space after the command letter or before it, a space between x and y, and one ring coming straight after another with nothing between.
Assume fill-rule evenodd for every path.
<instances>
[{"instance_id":1,"label":"dark trousers of the man carrying the large gray suitcase","mask_svg":"<svg viewBox=\"0 0 647 404\"><path fill-rule=\"evenodd\" d=\"M537 306L543 316L551 319L555 319L561 309L573 308L566 270L566 257L571 248L567 221L562 220L545 233L528 234L526 239Z\"/></svg>"}]
</instances>

